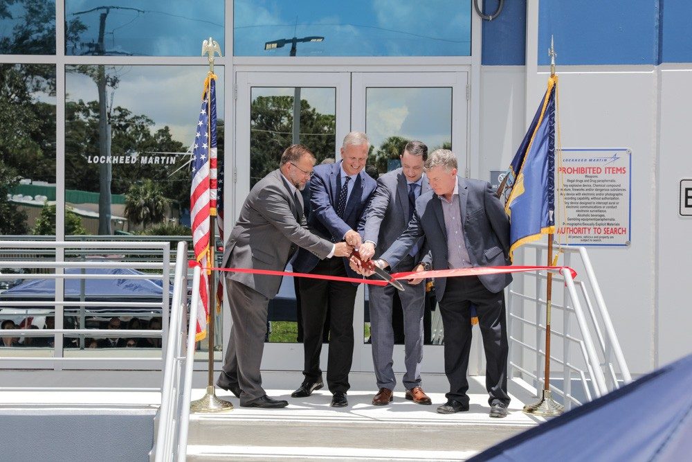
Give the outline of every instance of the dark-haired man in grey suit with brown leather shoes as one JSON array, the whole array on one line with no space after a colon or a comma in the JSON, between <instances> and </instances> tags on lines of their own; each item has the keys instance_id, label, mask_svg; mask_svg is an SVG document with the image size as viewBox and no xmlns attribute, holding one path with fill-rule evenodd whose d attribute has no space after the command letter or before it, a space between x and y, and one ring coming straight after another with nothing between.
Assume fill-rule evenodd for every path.
<instances>
[{"instance_id":1,"label":"dark-haired man in grey suit with brown leather shoes","mask_svg":"<svg viewBox=\"0 0 692 462\"><path fill-rule=\"evenodd\" d=\"M388 249L406 230L413 216L416 199L430 190L428 179L423 175L423 164L428 159L428 146L421 141L406 144L401 159L401 168L388 172L377 179L377 188L370 202L365 220L365 241L358 252L363 260L379 256ZM409 272L421 260L424 239L411 249L392 272ZM394 352L394 329L392 308L394 292L391 285L371 285L370 338L372 339L372 363L379 391L372 404L383 406L392 401L397 384L392 368ZM425 285L411 281L406 290L399 292L403 309L404 365L406 374L403 385L406 399L421 405L430 405L430 398L421 388L421 362L423 361L423 314L425 308Z\"/></svg>"}]
</instances>

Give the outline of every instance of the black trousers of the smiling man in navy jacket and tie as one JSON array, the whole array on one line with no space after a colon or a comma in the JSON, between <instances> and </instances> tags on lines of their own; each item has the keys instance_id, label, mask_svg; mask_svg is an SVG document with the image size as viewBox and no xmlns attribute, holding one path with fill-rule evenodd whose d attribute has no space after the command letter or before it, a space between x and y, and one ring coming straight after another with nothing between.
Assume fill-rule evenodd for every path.
<instances>
[{"instance_id":1,"label":"black trousers of the smiling man in navy jacket and tie","mask_svg":"<svg viewBox=\"0 0 692 462\"><path fill-rule=\"evenodd\" d=\"M320 260L311 274L347 277L343 257ZM301 278L300 303L303 323L305 364L303 375L307 382L322 377L320 353L322 330L329 306L329 359L327 385L331 393L345 393L350 388L348 374L353 362L353 310L358 285L322 279Z\"/></svg>"}]
</instances>

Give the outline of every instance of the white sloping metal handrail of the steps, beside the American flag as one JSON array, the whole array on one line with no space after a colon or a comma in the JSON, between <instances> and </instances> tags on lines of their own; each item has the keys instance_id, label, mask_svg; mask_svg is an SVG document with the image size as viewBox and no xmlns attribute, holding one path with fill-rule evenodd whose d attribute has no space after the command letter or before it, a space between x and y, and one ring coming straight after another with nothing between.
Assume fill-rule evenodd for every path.
<instances>
[{"instance_id":1,"label":"white sloping metal handrail of the steps, beside the American flag","mask_svg":"<svg viewBox=\"0 0 692 462\"><path fill-rule=\"evenodd\" d=\"M179 242L174 274L171 330L166 345L161 407L156 415L156 443L152 454L156 462L185 459L190 412L190 387L194 363L194 340L197 326L197 297L192 297L187 317L188 270L187 242ZM192 294L199 292L199 267L192 272ZM187 321L186 321L187 317ZM185 368L183 368L183 362Z\"/></svg>"}]
</instances>

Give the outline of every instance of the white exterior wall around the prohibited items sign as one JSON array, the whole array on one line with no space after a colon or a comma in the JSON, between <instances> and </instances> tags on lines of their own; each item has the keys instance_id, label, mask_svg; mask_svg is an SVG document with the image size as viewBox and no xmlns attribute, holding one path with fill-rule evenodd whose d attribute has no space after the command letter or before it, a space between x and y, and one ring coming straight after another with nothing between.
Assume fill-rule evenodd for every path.
<instances>
[{"instance_id":1,"label":"white exterior wall around the prohibited items sign","mask_svg":"<svg viewBox=\"0 0 692 462\"><path fill-rule=\"evenodd\" d=\"M692 261L692 217L678 213L680 179L692 179L692 68L558 66L558 74L563 148L632 150L632 244L590 247L589 254L630 371L646 373L692 353L692 278L684 269ZM509 165L549 70L484 66L481 76L472 176L488 179L489 170Z\"/></svg>"}]
</instances>

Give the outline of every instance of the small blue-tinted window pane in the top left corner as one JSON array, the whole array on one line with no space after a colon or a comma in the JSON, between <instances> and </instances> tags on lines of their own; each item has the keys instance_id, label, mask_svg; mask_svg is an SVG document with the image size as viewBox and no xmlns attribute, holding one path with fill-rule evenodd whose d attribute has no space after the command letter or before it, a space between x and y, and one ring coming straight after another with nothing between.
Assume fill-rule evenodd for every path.
<instances>
[{"instance_id":1,"label":"small blue-tinted window pane in the top left corner","mask_svg":"<svg viewBox=\"0 0 692 462\"><path fill-rule=\"evenodd\" d=\"M55 1L1 1L0 54L55 55Z\"/></svg>"}]
</instances>

